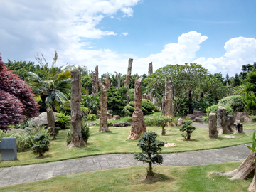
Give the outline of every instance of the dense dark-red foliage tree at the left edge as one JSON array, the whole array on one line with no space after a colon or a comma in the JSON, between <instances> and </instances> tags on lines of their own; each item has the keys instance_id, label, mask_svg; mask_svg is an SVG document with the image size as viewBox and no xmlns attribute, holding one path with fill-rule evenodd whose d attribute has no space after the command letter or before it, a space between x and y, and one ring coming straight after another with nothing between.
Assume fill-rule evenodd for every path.
<instances>
[{"instance_id":1,"label":"dense dark-red foliage tree at the left edge","mask_svg":"<svg viewBox=\"0 0 256 192\"><path fill-rule=\"evenodd\" d=\"M31 88L4 65L0 56L0 129L38 114L39 105Z\"/></svg>"}]
</instances>

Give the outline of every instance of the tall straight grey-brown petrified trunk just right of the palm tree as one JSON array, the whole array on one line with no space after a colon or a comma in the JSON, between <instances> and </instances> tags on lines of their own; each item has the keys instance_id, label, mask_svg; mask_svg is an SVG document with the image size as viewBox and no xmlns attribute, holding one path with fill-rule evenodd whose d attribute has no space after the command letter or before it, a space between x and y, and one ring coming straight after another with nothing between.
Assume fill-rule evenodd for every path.
<instances>
[{"instance_id":1,"label":"tall straight grey-brown petrified trunk just right of the palm tree","mask_svg":"<svg viewBox=\"0 0 256 192\"><path fill-rule=\"evenodd\" d=\"M82 114L80 109L81 93L81 75L79 70L71 71L71 143L69 147L80 147L81 144L85 145L85 141L82 139L81 127L82 127Z\"/></svg>"}]
</instances>

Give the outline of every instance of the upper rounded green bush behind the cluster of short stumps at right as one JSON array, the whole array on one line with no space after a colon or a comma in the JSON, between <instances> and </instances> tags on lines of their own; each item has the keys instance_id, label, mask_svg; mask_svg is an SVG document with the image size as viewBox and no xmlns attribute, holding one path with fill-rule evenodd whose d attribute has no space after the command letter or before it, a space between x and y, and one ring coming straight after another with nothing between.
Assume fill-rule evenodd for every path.
<instances>
[{"instance_id":1,"label":"upper rounded green bush behind the cluster of short stumps at right","mask_svg":"<svg viewBox=\"0 0 256 192\"><path fill-rule=\"evenodd\" d=\"M228 96L218 102L219 105L228 105L234 112L243 112L245 104L242 102L241 95Z\"/></svg>"}]
</instances>

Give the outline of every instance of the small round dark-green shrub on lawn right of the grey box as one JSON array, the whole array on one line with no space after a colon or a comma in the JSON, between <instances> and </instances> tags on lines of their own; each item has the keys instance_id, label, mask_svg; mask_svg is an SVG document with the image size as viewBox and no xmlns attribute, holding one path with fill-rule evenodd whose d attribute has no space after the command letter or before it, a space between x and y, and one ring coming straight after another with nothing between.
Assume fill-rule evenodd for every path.
<instances>
[{"instance_id":1,"label":"small round dark-green shrub on lawn right of the grey box","mask_svg":"<svg viewBox=\"0 0 256 192\"><path fill-rule=\"evenodd\" d=\"M43 156L43 153L49 150L50 141L46 134L36 134L33 137L33 151L39 156Z\"/></svg>"}]
</instances>

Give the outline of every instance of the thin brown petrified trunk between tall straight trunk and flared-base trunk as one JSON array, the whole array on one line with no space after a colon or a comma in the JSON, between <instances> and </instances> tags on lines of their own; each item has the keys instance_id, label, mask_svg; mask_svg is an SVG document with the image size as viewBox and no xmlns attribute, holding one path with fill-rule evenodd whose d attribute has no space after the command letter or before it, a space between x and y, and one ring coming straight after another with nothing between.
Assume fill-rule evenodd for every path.
<instances>
[{"instance_id":1,"label":"thin brown petrified trunk between tall straight trunk and flared-base trunk","mask_svg":"<svg viewBox=\"0 0 256 192\"><path fill-rule=\"evenodd\" d=\"M107 127L107 90L100 90L100 129L98 132L110 132Z\"/></svg>"}]
</instances>

